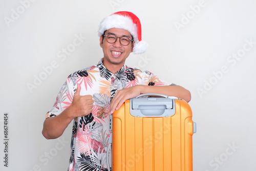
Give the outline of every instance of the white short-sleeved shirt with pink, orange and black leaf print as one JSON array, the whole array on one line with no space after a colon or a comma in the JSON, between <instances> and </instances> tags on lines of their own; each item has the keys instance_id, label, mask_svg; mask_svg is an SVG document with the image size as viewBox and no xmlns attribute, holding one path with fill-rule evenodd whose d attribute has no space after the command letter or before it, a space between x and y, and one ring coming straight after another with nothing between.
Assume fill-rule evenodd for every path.
<instances>
[{"instance_id":1,"label":"white short-sleeved shirt with pink, orange and black leaf print","mask_svg":"<svg viewBox=\"0 0 256 171\"><path fill-rule=\"evenodd\" d=\"M75 118L73 122L69 170L108 170L106 150L110 137L110 103L117 90L137 84L170 85L151 72L127 66L113 74L105 68L102 61L103 59L95 66L71 74L61 87L53 108L46 115L46 118L57 116L70 106L77 83L81 85L81 96L93 96L93 112Z\"/></svg>"}]
</instances>

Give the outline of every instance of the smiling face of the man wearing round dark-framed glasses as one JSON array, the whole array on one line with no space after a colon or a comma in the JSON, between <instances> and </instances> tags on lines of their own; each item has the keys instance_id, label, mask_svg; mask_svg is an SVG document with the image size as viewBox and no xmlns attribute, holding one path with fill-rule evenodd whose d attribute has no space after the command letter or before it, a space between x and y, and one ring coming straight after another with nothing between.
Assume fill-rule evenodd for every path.
<instances>
[{"instance_id":1,"label":"smiling face of the man wearing round dark-framed glasses","mask_svg":"<svg viewBox=\"0 0 256 171\"><path fill-rule=\"evenodd\" d=\"M132 35L129 31L123 29L112 28L105 31L106 34L115 34L117 37L128 36L132 39ZM103 64L104 66L111 71L116 73L119 71L125 62L125 59L133 52L134 42L131 41L129 45L123 46L120 44L119 38L114 44L110 44L106 41L106 37L100 36L100 47L103 50Z\"/></svg>"}]
</instances>

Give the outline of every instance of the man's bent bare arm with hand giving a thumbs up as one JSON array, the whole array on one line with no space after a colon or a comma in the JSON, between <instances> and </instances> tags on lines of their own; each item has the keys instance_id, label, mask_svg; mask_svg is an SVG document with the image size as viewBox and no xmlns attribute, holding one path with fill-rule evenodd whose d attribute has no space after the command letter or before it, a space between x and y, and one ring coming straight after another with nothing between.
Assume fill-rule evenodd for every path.
<instances>
[{"instance_id":1,"label":"man's bent bare arm with hand giving a thumbs up","mask_svg":"<svg viewBox=\"0 0 256 171\"><path fill-rule=\"evenodd\" d=\"M93 97L91 95L80 96L80 90L81 86L77 84L77 91L71 105L58 116L45 120L42 135L46 139L60 137L74 118L86 116L93 111Z\"/></svg>"}]
</instances>

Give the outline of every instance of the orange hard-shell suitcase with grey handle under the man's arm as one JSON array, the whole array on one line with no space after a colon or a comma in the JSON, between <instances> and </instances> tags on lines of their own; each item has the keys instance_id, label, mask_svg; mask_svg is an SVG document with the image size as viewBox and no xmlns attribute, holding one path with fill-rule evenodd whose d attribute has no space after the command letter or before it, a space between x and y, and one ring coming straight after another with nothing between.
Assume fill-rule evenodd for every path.
<instances>
[{"instance_id":1,"label":"orange hard-shell suitcase with grey handle under the man's arm","mask_svg":"<svg viewBox=\"0 0 256 171\"><path fill-rule=\"evenodd\" d=\"M110 130L113 171L193 170L196 123L184 100L158 94L126 100L110 118Z\"/></svg>"}]
</instances>

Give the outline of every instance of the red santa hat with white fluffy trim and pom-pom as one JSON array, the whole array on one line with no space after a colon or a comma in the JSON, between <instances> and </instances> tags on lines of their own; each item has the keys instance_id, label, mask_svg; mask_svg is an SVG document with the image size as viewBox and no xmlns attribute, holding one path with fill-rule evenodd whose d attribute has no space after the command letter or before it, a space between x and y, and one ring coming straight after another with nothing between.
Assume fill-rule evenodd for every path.
<instances>
[{"instance_id":1,"label":"red santa hat with white fluffy trim and pom-pom","mask_svg":"<svg viewBox=\"0 0 256 171\"><path fill-rule=\"evenodd\" d=\"M128 11L116 12L102 20L99 26L98 35L104 34L104 31L118 28L124 29L131 33L134 39L134 54L144 53L147 49L147 43L141 40L141 24L139 18Z\"/></svg>"}]
</instances>

